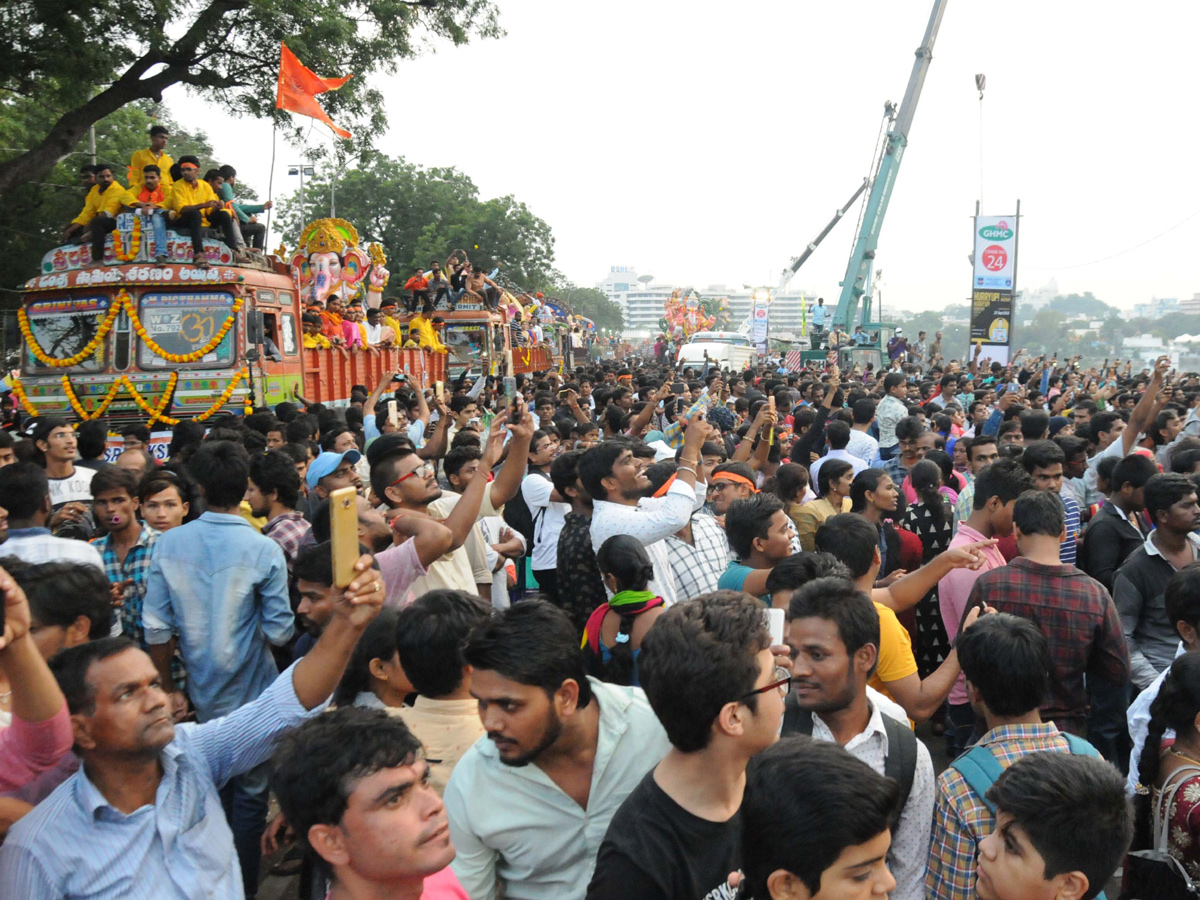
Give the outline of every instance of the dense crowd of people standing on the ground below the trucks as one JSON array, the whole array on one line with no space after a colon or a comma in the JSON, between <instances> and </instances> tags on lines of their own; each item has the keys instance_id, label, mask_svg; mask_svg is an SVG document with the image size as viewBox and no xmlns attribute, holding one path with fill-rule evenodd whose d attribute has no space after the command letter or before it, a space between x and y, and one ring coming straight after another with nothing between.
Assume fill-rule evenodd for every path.
<instances>
[{"instance_id":1,"label":"dense crowd of people standing on the ground below the trucks","mask_svg":"<svg viewBox=\"0 0 1200 900\"><path fill-rule=\"evenodd\" d=\"M1016 359L0 431L0 896L1200 880L1200 379Z\"/></svg>"}]
</instances>

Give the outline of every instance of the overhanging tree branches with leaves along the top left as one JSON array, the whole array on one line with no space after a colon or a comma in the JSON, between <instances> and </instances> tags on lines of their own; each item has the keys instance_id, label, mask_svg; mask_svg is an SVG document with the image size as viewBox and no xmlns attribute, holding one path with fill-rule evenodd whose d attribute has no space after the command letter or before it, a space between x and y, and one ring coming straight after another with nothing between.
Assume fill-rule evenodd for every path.
<instances>
[{"instance_id":1,"label":"overhanging tree branches with leaves along the top left","mask_svg":"<svg viewBox=\"0 0 1200 900\"><path fill-rule=\"evenodd\" d=\"M491 0L6 0L0 34L0 119L19 102L12 97L36 97L46 110L42 127L11 145L28 150L0 162L6 196L44 180L90 125L130 103L162 102L176 84L290 127L275 109L281 41L319 76L355 76L320 103L367 145L385 125L368 76L436 41L503 32Z\"/></svg>"}]
</instances>

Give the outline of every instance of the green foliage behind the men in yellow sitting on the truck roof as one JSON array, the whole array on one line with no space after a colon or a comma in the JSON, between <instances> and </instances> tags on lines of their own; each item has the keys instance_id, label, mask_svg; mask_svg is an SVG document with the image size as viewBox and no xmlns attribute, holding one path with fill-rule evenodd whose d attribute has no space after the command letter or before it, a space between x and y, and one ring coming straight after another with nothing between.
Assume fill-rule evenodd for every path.
<instances>
[{"instance_id":1,"label":"green foliage behind the men in yellow sitting on the truck roof","mask_svg":"<svg viewBox=\"0 0 1200 900\"><path fill-rule=\"evenodd\" d=\"M35 97L16 100L2 108L0 146L29 146L47 127L47 109ZM154 124L170 130L168 146L173 157L194 154L205 168L216 163L204 132L184 131L166 109L136 103L96 122L96 158L114 166L114 174L121 184L127 184L130 157L148 145L146 132ZM40 180L25 182L5 194L8 215L0 223L5 247L5 252L0 253L0 288L11 290L37 275L42 254L59 242L62 229L83 209L79 167L89 161L88 142L82 140ZM248 196L240 182L238 191ZM16 295L0 294L0 298L6 306L16 305Z\"/></svg>"}]
</instances>

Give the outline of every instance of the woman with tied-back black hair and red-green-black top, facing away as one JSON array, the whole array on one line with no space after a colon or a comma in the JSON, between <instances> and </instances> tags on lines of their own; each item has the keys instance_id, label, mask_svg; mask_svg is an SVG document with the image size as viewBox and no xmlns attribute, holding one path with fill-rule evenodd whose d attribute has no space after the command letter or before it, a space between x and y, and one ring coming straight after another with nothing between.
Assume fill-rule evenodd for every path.
<instances>
[{"instance_id":1,"label":"woman with tied-back black hair and red-green-black top, facing away","mask_svg":"<svg viewBox=\"0 0 1200 900\"><path fill-rule=\"evenodd\" d=\"M592 613L583 634L588 671L611 684L637 686L642 638L666 608L648 589L654 564L640 540L616 534L600 545L596 565L612 596Z\"/></svg>"}]
</instances>

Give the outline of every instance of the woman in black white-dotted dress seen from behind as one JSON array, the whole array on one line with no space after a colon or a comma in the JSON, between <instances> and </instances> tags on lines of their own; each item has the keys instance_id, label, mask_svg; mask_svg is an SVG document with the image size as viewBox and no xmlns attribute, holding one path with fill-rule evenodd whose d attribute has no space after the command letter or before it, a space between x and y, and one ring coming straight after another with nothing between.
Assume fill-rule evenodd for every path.
<instances>
[{"instance_id":1,"label":"woman in black white-dotted dress seen from behind","mask_svg":"<svg viewBox=\"0 0 1200 900\"><path fill-rule=\"evenodd\" d=\"M942 493L942 468L929 458L929 454L908 470L908 480L917 502L910 504L901 524L920 539L920 562L924 565L950 545L950 538L954 536L953 508ZM917 644L917 667L920 677L925 678L950 652L936 587L917 602L916 613L917 634L913 638Z\"/></svg>"}]
</instances>

